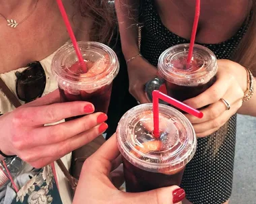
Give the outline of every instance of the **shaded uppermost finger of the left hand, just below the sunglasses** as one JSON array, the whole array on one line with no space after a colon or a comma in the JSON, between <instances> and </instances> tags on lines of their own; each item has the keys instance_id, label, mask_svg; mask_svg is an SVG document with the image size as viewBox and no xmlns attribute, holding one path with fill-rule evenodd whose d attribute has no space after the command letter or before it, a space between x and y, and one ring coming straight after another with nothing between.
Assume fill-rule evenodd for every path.
<instances>
[{"instance_id":1,"label":"shaded uppermost finger of the left hand, just below the sunglasses","mask_svg":"<svg viewBox=\"0 0 256 204\"><path fill-rule=\"evenodd\" d=\"M59 89L56 89L55 91L47 95L44 95L43 97L40 97L35 101L27 103L26 106L50 105L50 104L59 103L59 102L61 102L61 97L59 95Z\"/></svg>"}]
</instances>

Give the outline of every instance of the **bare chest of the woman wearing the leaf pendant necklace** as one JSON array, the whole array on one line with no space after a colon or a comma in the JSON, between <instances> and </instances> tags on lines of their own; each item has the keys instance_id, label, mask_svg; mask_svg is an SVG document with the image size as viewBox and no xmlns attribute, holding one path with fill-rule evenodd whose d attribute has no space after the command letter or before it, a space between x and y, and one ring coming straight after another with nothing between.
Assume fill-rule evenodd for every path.
<instances>
[{"instance_id":1,"label":"bare chest of the woman wearing the leaf pendant necklace","mask_svg":"<svg viewBox=\"0 0 256 204\"><path fill-rule=\"evenodd\" d=\"M69 35L56 3L39 1L36 11L16 28L7 26L0 18L0 73L9 72L49 56L67 40ZM75 7L65 3L69 21L77 40L88 40L92 21L75 15ZM18 22L18 19L17 19Z\"/></svg>"}]
</instances>

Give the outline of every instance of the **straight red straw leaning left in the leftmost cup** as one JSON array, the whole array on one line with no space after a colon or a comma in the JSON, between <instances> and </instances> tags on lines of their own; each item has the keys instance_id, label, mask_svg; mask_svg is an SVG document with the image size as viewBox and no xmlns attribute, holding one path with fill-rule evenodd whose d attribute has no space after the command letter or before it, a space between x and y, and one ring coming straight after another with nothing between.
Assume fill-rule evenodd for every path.
<instances>
[{"instance_id":1,"label":"straight red straw leaning left in the leftmost cup","mask_svg":"<svg viewBox=\"0 0 256 204\"><path fill-rule=\"evenodd\" d=\"M71 25L69 23L69 18L67 17L67 13L65 11L65 8L63 6L63 3L61 0L56 0L58 5L59 5L59 11L61 11L61 15L63 17L63 20L65 22L66 28L67 28L67 32L69 33L69 37L71 38L72 44L75 48L75 52L77 54L78 60L79 60L79 64L80 66L82 66L82 69L84 72L87 72L87 67L86 67L86 63L84 62L84 58L82 56L82 53L77 45L77 41L75 40L75 35L73 34L73 30L71 28Z\"/></svg>"}]
</instances>

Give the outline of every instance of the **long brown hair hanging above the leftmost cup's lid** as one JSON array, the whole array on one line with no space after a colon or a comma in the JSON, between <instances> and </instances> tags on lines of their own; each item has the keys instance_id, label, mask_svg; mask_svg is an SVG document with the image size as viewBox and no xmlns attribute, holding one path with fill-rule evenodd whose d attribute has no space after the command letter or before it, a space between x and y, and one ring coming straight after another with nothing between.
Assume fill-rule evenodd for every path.
<instances>
[{"instance_id":1,"label":"long brown hair hanging above the leftmost cup's lid","mask_svg":"<svg viewBox=\"0 0 256 204\"><path fill-rule=\"evenodd\" d=\"M83 17L90 17L94 24L90 39L109 44L116 28L114 3L108 0L73 0Z\"/></svg>"}]
</instances>

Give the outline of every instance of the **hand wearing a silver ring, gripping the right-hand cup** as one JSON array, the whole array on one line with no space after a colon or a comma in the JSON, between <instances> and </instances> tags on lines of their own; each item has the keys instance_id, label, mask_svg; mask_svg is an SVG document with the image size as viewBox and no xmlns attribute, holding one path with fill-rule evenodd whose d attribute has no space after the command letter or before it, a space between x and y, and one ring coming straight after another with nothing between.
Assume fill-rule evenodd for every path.
<instances>
[{"instance_id":1,"label":"hand wearing a silver ring, gripping the right-hand cup","mask_svg":"<svg viewBox=\"0 0 256 204\"><path fill-rule=\"evenodd\" d=\"M242 105L242 98L247 86L245 68L230 60L218 60L216 77L217 81L212 87L201 95L184 101L196 109L209 105L201 110L204 115L201 119L186 115L199 138L219 130ZM230 104L229 110L221 99Z\"/></svg>"}]
</instances>

